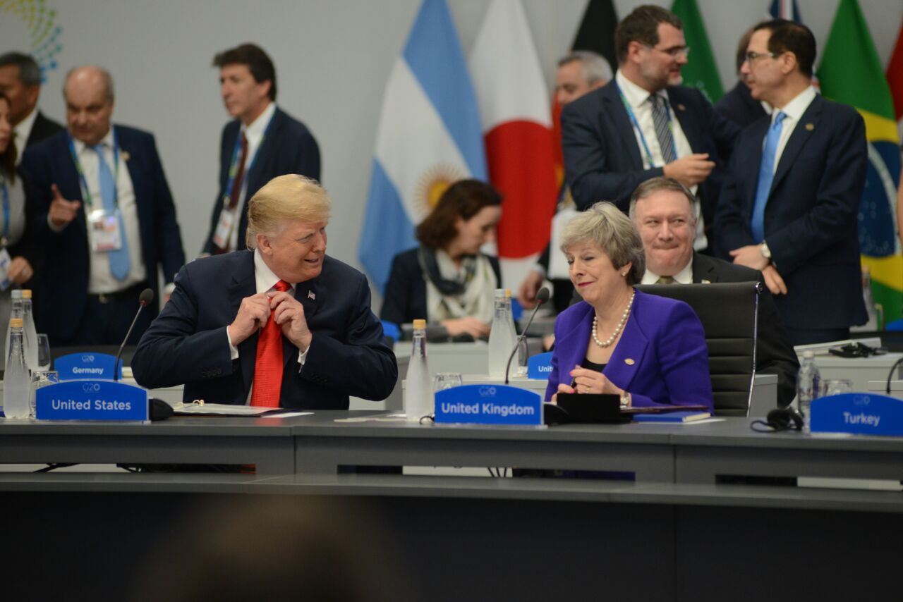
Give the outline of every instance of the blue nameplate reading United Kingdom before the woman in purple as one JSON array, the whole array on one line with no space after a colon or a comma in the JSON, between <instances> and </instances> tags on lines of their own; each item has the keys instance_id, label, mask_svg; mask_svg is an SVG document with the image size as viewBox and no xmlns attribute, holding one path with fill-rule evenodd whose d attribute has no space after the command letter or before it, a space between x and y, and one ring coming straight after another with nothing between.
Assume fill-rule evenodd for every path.
<instances>
[{"instance_id":1,"label":"blue nameplate reading United Kingdom before the woman in purple","mask_svg":"<svg viewBox=\"0 0 903 602\"><path fill-rule=\"evenodd\" d=\"M543 398L505 384L465 384L436 393L436 422L542 424Z\"/></svg>"}]
</instances>

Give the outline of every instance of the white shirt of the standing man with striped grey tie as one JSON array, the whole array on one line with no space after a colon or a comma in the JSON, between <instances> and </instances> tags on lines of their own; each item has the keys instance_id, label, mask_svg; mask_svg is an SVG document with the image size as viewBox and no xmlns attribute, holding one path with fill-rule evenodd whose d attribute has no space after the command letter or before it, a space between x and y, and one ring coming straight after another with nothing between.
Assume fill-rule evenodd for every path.
<instances>
[{"instance_id":1,"label":"white shirt of the standing man with striped grey tie","mask_svg":"<svg viewBox=\"0 0 903 602\"><path fill-rule=\"evenodd\" d=\"M618 88L620 89L621 94L627 99L630 110L633 111L633 115L637 118L639 130L636 127L632 127L632 129L634 136L637 138L639 155L643 158L643 169L650 170L654 167L664 167L665 159L662 156L662 147L658 144L656 125L652 120L652 105L649 103L649 97L651 95L649 94L649 91L625 78L624 74L620 72L620 69L615 73L615 81L618 82ZM680 121L675 117L675 112L671 107L671 100L668 98L667 90L658 90L656 96L663 98L666 101L668 114L671 117L671 131L674 135L675 154L677 155L677 158L680 159L688 154L693 154L693 148L686 139L684 129L680 126ZM640 134L640 132L642 132L642 134ZM643 148L644 139L649 147L649 153L652 155L652 164L649 164L649 157L647 156L646 150ZM698 188L698 186L694 186L690 190L696 194ZM705 237L705 224L703 223L703 208L702 205L700 205L699 200L697 200L696 240L694 241L694 249L699 251L708 245L709 241Z\"/></svg>"}]
</instances>

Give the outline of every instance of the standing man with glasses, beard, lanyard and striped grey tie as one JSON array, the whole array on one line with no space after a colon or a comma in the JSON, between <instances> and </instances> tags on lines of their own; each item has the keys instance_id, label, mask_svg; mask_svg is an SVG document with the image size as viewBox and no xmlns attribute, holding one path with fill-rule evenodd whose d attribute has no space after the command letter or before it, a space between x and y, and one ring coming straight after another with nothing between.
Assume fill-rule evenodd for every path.
<instances>
[{"instance_id":1,"label":"standing man with glasses, beard, lanyard and striped grey tie","mask_svg":"<svg viewBox=\"0 0 903 602\"><path fill-rule=\"evenodd\" d=\"M722 165L740 128L715 114L699 90L679 85L690 51L683 28L675 14L654 5L639 6L618 24L615 78L563 109L564 167L582 209L610 200L626 212L643 181L680 181L700 199L695 245L702 250Z\"/></svg>"}]
</instances>

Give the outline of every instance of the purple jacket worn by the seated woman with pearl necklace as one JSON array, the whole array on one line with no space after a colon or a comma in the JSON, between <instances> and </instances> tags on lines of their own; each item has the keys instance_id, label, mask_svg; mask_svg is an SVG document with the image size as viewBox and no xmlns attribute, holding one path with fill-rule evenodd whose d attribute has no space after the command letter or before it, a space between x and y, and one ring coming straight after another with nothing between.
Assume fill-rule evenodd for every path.
<instances>
[{"instance_id":1,"label":"purple jacket worn by the seated woman with pearl necklace","mask_svg":"<svg viewBox=\"0 0 903 602\"><path fill-rule=\"evenodd\" d=\"M583 363L594 314L585 301L558 314L546 401L558 391L559 383L571 384L571 370ZM631 394L636 406L713 406L703 325L684 301L637 291L624 332L602 374Z\"/></svg>"}]
</instances>

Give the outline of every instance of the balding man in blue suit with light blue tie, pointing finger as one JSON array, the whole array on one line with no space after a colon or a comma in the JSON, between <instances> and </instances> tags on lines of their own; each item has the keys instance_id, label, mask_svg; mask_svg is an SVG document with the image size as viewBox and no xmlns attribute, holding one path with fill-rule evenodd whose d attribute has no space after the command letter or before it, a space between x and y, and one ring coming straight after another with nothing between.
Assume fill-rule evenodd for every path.
<instances>
[{"instance_id":1,"label":"balding man in blue suit with light blue tie, pointing finger","mask_svg":"<svg viewBox=\"0 0 903 602\"><path fill-rule=\"evenodd\" d=\"M38 242L38 329L51 345L118 345L138 297L157 292L158 268L172 282L185 263L172 195L154 136L110 125L113 79L104 69L72 69L63 87L68 130L26 149ZM137 334L157 304L142 312Z\"/></svg>"}]
</instances>

